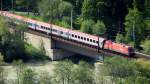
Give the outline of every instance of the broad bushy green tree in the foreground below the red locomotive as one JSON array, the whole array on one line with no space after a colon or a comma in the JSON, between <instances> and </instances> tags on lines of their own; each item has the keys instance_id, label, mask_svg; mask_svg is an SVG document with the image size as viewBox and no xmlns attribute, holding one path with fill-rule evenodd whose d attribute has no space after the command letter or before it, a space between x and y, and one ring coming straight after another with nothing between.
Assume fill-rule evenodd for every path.
<instances>
[{"instance_id":1,"label":"broad bushy green tree in the foreground below the red locomotive","mask_svg":"<svg viewBox=\"0 0 150 84\"><path fill-rule=\"evenodd\" d=\"M116 61L117 60L117 61ZM121 57L113 57L107 62L108 72L111 81L124 84L124 79L134 76L136 77L135 62Z\"/></svg>"}]
</instances>

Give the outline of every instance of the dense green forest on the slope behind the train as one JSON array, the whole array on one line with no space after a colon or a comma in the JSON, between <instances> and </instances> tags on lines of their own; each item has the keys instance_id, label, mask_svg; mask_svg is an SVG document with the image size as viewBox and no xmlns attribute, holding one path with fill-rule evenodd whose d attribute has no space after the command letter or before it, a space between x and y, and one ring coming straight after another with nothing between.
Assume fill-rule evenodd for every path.
<instances>
[{"instance_id":1,"label":"dense green forest on the slope behind the train","mask_svg":"<svg viewBox=\"0 0 150 84\"><path fill-rule=\"evenodd\" d=\"M1 3L2 10L28 12L32 18L125 43L149 54L149 0L1 0Z\"/></svg>"}]
</instances>

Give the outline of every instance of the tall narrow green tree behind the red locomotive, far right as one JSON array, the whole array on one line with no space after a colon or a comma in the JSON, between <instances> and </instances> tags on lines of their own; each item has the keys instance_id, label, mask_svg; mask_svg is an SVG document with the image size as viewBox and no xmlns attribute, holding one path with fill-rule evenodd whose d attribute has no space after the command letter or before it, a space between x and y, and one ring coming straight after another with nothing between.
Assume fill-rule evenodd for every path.
<instances>
[{"instance_id":1,"label":"tall narrow green tree behind the red locomotive, far right","mask_svg":"<svg viewBox=\"0 0 150 84\"><path fill-rule=\"evenodd\" d=\"M134 46L138 47L143 39L144 24L141 13L137 8L129 9L129 13L125 19L126 41L134 42Z\"/></svg>"}]
</instances>

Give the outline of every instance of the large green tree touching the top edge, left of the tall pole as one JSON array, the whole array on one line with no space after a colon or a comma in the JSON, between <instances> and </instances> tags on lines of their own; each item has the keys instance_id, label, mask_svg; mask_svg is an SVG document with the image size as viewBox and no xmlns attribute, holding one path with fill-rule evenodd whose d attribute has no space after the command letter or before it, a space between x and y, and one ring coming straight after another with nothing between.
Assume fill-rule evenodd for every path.
<instances>
[{"instance_id":1,"label":"large green tree touching the top edge, left of the tall pole","mask_svg":"<svg viewBox=\"0 0 150 84\"><path fill-rule=\"evenodd\" d=\"M59 17L59 4L61 0L41 0L38 8L43 19L53 22Z\"/></svg>"}]
</instances>

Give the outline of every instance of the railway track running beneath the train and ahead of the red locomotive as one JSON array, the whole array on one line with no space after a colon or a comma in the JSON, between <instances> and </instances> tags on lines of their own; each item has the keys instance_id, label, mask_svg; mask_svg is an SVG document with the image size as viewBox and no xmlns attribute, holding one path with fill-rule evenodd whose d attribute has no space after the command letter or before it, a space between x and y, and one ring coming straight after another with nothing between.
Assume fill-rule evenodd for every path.
<instances>
[{"instance_id":1,"label":"railway track running beneath the train and ahead of the red locomotive","mask_svg":"<svg viewBox=\"0 0 150 84\"><path fill-rule=\"evenodd\" d=\"M28 32L33 33L33 34L37 34L37 35L42 35L42 36L47 37L47 38L51 38L50 36L47 36L47 35L45 35L43 33L40 33L40 32L35 32L33 30L29 30ZM86 48L86 49L90 49L90 50L93 50L95 52L99 52L104 56L116 56L117 55L117 56L128 57L126 55L116 53L116 52L112 52L112 51L108 51L108 50L99 49L99 51L98 51L98 49L93 48L89 45L81 44L81 43L74 42L74 41L64 39L64 38L60 38L60 37L57 37L57 36L52 36L52 39L57 40L57 41L61 41L61 42L65 42L65 43L69 43L69 44L72 44L72 45L75 45L75 46L78 46L78 47L83 47L83 48ZM143 59L150 60L150 55L143 54L143 53L140 53L140 52L135 52L134 58L143 58Z\"/></svg>"}]
</instances>

